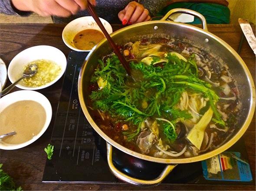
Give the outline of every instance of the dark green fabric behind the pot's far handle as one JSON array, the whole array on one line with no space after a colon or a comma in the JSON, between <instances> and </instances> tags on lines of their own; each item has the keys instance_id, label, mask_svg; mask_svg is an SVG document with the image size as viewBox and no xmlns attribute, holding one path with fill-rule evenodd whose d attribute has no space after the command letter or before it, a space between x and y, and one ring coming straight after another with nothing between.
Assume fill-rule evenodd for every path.
<instances>
[{"instance_id":1,"label":"dark green fabric behind the pot's far handle","mask_svg":"<svg viewBox=\"0 0 256 191\"><path fill-rule=\"evenodd\" d=\"M164 16L169 10L175 9L175 8L184 8L184 9L190 9L197 11L198 13L201 13L208 24L229 24L230 22L230 10L228 7L220 5L220 4L214 4L214 3L172 3L164 9L162 9L158 15ZM193 22L190 22L190 24L200 24L201 21L197 17L195 17Z\"/></svg>"}]
</instances>

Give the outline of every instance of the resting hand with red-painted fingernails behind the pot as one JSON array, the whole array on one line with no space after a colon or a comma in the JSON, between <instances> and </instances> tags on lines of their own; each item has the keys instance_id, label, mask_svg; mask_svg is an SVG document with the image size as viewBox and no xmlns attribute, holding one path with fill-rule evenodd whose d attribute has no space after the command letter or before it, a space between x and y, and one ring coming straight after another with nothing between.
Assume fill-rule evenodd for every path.
<instances>
[{"instance_id":1,"label":"resting hand with red-painted fingernails behind the pot","mask_svg":"<svg viewBox=\"0 0 256 191\"><path fill-rule=\"evenodd\" d=\"M124 10L118 13L118 18L123 25L144 22L151 19L149 12L143 5L135 1L130 2Z\"/></svg>"}]
</instances>

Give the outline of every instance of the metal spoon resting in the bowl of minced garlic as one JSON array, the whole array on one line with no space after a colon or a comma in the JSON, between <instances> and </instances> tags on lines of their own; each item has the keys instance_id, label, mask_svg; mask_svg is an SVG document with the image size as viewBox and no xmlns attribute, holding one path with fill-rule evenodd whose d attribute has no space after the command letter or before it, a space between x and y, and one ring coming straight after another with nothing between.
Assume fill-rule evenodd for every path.
<instances>
[{"instance_id":1,"label":"metal spoon resting in the bowl of minced garlic","mask_svg":"<svg viewBox=\"0 0 256 191\"><path fill-rule=\"evenodd\" d=\"M23 75L20 79L16 80L16 82L14 82L13 84L11 84L10 86L8 86L6 89L3 89L0 92L0 97L6 95L7 93L9 93L11 91L11 89L14 88L14 86L20 82L20 80L23 80L24 78L30 78L32 76L34 76L37 72L37 65L36 64L31 64L30 66L26 67L26 69L23 72Z\"/></svg>"}]
</instances>

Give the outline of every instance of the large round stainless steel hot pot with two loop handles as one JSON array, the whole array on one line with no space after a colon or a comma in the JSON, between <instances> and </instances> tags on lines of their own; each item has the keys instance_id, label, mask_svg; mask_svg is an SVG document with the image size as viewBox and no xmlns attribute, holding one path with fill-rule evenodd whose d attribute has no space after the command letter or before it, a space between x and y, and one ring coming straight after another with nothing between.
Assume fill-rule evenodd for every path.
<instances>
[{"instance_id":1,"label":"large round stainless steel hot pot with two loop handles","mask_svg":"<svg viewBox=\"0 0 256 191\"><path fill-rule=\"evenodd\" d=\"M168 17L174 13L187 13L197 16L202 21L203 29L183 23L167 21L166 19L168 19ZM230 146L236 143L236 141L239 140L240 137L242 137L253 118L253 113L255 109L255 86L253 83L253 78L249 73L246 64L236 53L236 51L234 51L233 48L231 48L230 45L228 45L226 42L207 31L206 20L201 14L192 10L174 9L169 11L167 15L164 16L164 18L160 21L150 21L131 25L112 33L111 37L116 44L121 45L129 41L138 41L144 37L174 37L191 41L194 45L202 47L204 50L210 51L212 54L217 55L217 57L220 57L223 60L223 63L226 63L228 65L228 67L230 68L230 73L237 81L237 87L241 93L240 101L242 103L240 118L237 119L238 124L240 125L240 130L237 131L236 134L234 134L228 142L208 153L194 156L192 158L161 159L129 150L109 138L97 126L97 124L95 124L90 115L88 104L86 103L86 100L89 96L89 93L86 90L88 89L90 84L90 77L98 63L97 60L101 59L102 56L107 55L112 51L106 38L103 39L95 48L93 48L93 51L91 51L85 59L85 63L83 64L79 74L78 92L79 101L85 117L95 129L95 131L107 141L108 165L115 176L123 181L135 185L157 185L172 171L172 169L174 169L175 166L177 166L177 164L196 162L213 157L228 149ZM112 146L115 146L119 150L140 159L152 162L165 163L167 164L166 168L161 173L161 175L159 175L158 178L154 180L140 180L132 178L118 171L118 169L116 169L113 165Z\"/></svg>"}]
</instances>

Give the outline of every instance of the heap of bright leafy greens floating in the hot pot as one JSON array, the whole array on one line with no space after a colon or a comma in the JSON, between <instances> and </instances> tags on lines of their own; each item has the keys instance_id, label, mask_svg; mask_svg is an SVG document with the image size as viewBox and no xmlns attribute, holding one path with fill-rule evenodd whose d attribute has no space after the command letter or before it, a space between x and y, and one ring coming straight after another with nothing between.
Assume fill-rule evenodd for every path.
<instances>
[{"instance_id":1,"label":"heap of bright leafy greens floating in the hot pot","mask_svg":"<svg viewBox=\"0 0 256 191\"><path fill-rule=\"evenodd\" d=\"M161 67L153 65L160 57L152 57L151 65L143 62L131 62L131 69L138 74L138 80L131 80L120 64L115 54L105 61L99 60L98 67L91 82L97 83L103 79L106 86L100 90L92 91L90 98L93 106L107 112L118 120L124 120L138 128L129 128L123 134L128 140L134 139L140 132L140 125L146 118L165 118L170 123L163 123L163 132L167 139L173 141L177 138L175 121L177 119L190 119L188 111L177 109L181 94L184 91L200 92L209 98L210 107L213 110L216 123L224 124L216 103L219 100L217 94L210 89L212 86L198 78L198 68L195 55L190 56L187 62L181 60L175 54L168 53ZM147 106L142 107L142 102ZM208 106L207 105L207 106ZM207 108L208 109L208 108ZM207 111L206 108L204 110ZM204 111L202 110L202 111Z\"/></svg>"}]
</instances>

